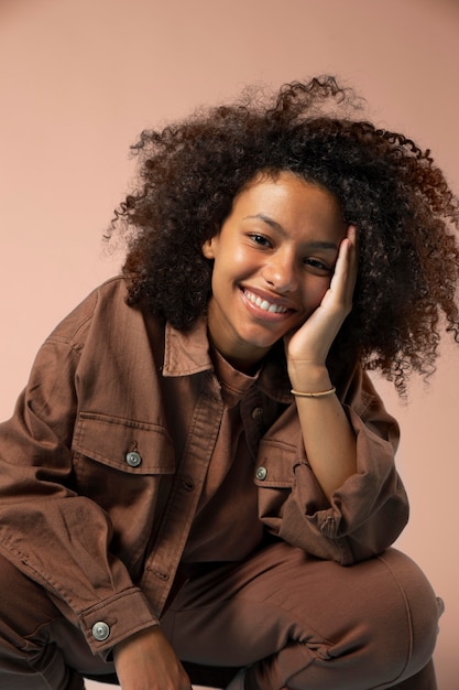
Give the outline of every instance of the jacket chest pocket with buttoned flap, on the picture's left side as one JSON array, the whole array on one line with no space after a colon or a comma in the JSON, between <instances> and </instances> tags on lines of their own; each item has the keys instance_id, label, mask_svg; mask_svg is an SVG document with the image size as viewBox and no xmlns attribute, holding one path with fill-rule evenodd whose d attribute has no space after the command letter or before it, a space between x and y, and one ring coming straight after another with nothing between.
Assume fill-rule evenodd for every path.
<instances>
[{"instance_id":1,"label":"jacket chest pocket with buttoned flap, on the picture's left side","mask_svg":"<svg viewBox=\"0 0 459 690\"><path fill-rule=\"evenodd\" d=\"M72 450L76 492L106 511L110 549L134 573L174 481L171 438L156 424L84 412Z\"/></svg>"}]
</instances>

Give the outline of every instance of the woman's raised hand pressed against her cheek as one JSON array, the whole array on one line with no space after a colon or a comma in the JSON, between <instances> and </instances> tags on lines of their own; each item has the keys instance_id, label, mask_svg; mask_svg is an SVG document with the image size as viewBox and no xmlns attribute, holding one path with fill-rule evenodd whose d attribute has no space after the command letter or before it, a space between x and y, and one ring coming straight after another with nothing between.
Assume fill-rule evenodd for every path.
<instances>
[{"instance_id":1,"label":"woman's raised hand pressed against her cheek","mask_svg":"<svg viewBox=\"0 0 459 690\"><path fill-rule=\"evenodd\" d=\"M314 375L316 368L325 367L331 344L352 309L357 263L357 231L351 225L339 247L335 273L321 303L296 332L285 336L288 373L294 388L305 390L303 386L309 382L308 371Z\"/></svg>"}]
</instances>

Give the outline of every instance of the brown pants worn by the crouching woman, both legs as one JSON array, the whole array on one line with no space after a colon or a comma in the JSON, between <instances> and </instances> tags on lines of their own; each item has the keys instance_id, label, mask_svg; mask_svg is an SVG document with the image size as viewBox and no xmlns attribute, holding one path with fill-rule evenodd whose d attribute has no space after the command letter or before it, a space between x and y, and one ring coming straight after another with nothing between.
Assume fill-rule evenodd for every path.
<instances>
[{"instance_id":1,"label":"brown pants worn by the crouching woman, both legs","mask_svg":"<svg viewBox=\"0 0 459 690\"><path fill-rule=\"evenodd\" d=\"M0 688L110 680L112 665L1 558L0 592ZM188 580L161 626L195 682L217 684L247 667L245 690L436 690L440 608L417 565L394 549L342 568L275 543Z\"/></svg>"}]
</instances>

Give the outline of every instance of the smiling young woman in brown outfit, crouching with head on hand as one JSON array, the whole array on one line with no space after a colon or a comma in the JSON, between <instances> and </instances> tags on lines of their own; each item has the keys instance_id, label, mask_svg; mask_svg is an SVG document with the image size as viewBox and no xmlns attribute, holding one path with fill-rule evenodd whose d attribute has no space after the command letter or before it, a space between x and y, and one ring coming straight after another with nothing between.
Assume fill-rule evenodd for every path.
<instances>
[{"instance_id":1,"label":"smiling young woman in brown outfit, crouching with head on hand","mask_svg":"<svg viewBox=\"0 0 459 690\"><path fill-rule=\"evenodd\" d=\"M347 115L327 115L329 104ZM391 548L402 395L458 338L458 203L334 78L144 132L123 276L0 427L0 684L435 690Z\"/></svg>"}]
</instances>

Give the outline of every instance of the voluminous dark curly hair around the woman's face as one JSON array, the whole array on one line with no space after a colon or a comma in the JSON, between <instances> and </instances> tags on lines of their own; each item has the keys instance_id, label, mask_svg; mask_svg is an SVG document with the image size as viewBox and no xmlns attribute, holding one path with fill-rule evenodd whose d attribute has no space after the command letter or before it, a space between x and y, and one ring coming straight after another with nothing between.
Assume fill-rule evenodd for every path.
<instances>
[{"instance_id":1,"label":"voluminous dark curly hair around the woman's face","mask_svg":"<svg viewBox=\"0 0 459 690\"><path fill-rule=\"evenodd\" d=\"M335 194L359 229L353 309L330 356L360 358L402 393L412 371L429 376L442 328L459 341L458 198L429 151L350 117L358 104L324 76L142 132L136 191L111 226L129 238L129 303L189 327L210 295L204 241L256 174L291 171Z\"/></svg>"}]
</instances>

